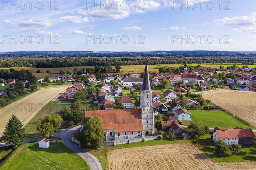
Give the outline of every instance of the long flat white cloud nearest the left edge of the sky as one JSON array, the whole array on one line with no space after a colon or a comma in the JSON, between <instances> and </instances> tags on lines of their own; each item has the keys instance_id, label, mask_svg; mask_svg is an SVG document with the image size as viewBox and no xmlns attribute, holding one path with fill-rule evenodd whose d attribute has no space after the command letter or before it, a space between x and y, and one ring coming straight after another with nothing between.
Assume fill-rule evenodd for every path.
<instances>
[{"instance_id":1,"label":"long flat white cloud nearest the left edge of the sky","mask_svg":"<svg viewBox=\"0 0 256 170\"><path fill-rule=\"evenodd\" d=\"M32 26L53 26L56 23L56 20L52 20L52 19L48 19L47 17L43 17L43 18L37 18L37 19L33 19L33 18L29 18L25 21L9 21L9 20L5 20L5 23L8 23L12 26L20 26L20 27L32 27Z\"/></svg>"}]
</instances>

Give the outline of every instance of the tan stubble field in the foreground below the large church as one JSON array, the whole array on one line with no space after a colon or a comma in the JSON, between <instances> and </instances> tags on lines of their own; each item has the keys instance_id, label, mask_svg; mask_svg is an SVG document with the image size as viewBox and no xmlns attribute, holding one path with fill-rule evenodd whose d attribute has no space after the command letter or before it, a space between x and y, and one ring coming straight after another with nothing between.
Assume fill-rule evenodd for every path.
<instances>
[{"instance_id":1,"label":"tan stubble field in the foreground below the large church","mask_svg":"<svg viewBox=\"0 0 256 170\"><path fill-rule=\"evenodd\" d=\"M134 147L107 151L109 170L254 169L256 162L215 163L191 143Z\"/></svg>"}]
</instances>

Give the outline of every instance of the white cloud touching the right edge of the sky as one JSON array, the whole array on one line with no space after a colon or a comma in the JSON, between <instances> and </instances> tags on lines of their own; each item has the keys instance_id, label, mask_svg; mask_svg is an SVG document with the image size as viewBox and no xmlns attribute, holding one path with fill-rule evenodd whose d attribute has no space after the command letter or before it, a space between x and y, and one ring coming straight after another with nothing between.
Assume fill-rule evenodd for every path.
<instances>
[{"instance_id":1,"label":"white cloud touching the right edge of the sky","mask_svg":"<svg viewBox=\"0 0 256 170\"><path fill-rule=\"evenodd\" d=\"M215 23L222 26L230 26L236 32L256 32L256 12L250 16L244 15L239 17L224 17L214 20Z\"/></svg>"}]
</instances>

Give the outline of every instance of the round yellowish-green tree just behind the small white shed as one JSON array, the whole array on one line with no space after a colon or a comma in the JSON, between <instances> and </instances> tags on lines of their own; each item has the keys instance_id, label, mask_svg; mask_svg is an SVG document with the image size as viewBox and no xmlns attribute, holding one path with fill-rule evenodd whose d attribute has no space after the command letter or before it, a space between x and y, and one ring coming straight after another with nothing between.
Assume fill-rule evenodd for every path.
<instances>
[{"instance_id":1,"label":"round yellowish-green tree just behind the small white shed","mask_svg":"<svg viewBox=\"0 0 256 170\"><path fill-rule=\"evenodd\" d=\"M56 128L61 126L61 116L60 115L45 115L41 116L38 120L36 129L45 138L51 136L55 132Z\"/></svg>"}]
</instances>

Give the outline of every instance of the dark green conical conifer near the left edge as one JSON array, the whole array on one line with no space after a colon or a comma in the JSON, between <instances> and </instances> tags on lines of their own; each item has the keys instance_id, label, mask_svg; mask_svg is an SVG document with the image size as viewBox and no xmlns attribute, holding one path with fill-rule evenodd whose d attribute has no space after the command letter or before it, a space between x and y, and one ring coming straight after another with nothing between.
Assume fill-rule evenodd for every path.
<instances>
[{"instance_id":1,"label":"dark green conical conifer near the left edge","mask_svg":"<svg viewBox=\"0 0 256 170\"><path fill-rule=\"evenodd\" d=\"M25 128L22 128L23 124L16 115L12 114L6 124L5 130L3 132L4 141L8 144L12 144L14 148L22 144L26 139Z\"/></svg>"}]
</instances>

